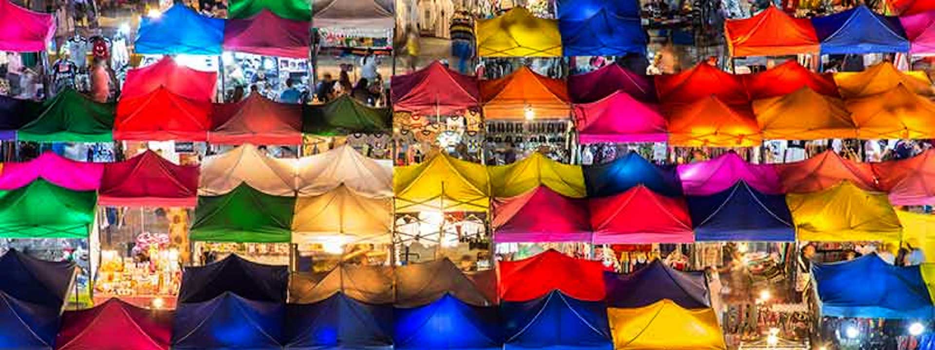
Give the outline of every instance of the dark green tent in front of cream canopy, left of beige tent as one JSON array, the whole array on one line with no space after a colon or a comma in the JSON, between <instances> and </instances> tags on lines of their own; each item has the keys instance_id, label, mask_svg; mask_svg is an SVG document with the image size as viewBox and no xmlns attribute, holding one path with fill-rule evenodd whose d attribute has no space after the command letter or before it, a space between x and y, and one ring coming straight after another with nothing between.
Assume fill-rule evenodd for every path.
<instances>
[{"instance_id":1,"label":"dark green tent in front of cream canopy, left of beige tent","mask_svg":"<svg viewBox=\"0 0 935 350\"><path fill-rule=\"evenodd\" d=\"M290 242L295 197L280 197L241 183L220 196L198 197L194 241L277 243Z\"/></svg>"}]
</instances>

